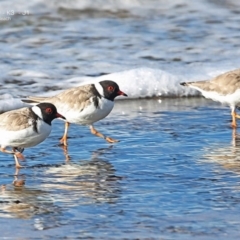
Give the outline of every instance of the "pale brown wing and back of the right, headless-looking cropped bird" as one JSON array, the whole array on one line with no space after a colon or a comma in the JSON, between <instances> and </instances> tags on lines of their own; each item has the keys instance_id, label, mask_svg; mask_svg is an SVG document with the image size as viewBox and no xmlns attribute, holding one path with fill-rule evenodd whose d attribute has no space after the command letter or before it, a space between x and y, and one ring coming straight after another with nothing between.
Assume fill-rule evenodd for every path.
<instances>
[{"instance_id":1,"label":"pale brown wing and back of the right, headless-looking cropped bird","mask_svg":"<svg viewBox=\"0 0 240 240\"><path fill-rule=\"evenodd\" d=\"M223 73L210 81L190 82L187 85L205 91L217 91L223 95L231 94L240 89L240 69Z\"/></svg>"}]
</instances>

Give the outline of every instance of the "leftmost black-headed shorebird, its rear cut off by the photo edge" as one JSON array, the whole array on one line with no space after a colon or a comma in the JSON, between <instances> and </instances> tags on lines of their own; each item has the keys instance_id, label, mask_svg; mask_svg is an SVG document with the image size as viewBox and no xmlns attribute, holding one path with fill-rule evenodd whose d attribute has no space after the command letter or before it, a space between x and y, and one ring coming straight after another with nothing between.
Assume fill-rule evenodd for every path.
<instances>
[{"instance_id":1,"label":"leftmost black-headed shorebird, its rear cut off by the photo edge","mask_svg":"<svg viewBox=\"0 0 240 240\"><path fill-rule=\"evenodd\" d=\"M63 118L51 103L40 103L0 114L0 151L14 155L16 167L24 159L24 148L33 147L44 141L50 134L51 122ZM12 151L7 150L12 147Z\"/></svg>"}]
</instances>

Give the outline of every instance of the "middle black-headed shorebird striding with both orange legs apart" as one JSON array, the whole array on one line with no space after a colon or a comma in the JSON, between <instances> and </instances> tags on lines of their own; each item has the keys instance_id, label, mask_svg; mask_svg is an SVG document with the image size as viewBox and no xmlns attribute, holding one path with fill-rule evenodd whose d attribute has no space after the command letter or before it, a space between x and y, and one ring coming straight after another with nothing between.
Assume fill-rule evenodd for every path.
<instances>
[{"instance_id":1,"label":"middle black-headed shorebird striding with both orange legs apart","mask_svg":"<svg viewBox=\"0 0 240 240\"><path fill-rule=\"evenodd\" d=\"M86 84L67 89L52 97L33 97L22 99L23 102L34 104L50 102L66 117L65 131L60 142L67 146L67 133L70 123L89 125L91 133L104 138L109 143L117 142L98 132L93 123L105 118L113 109L117 96L127 96L119 89L117 83L104 80L94 84Z\"/></svg>"}]
</instances>

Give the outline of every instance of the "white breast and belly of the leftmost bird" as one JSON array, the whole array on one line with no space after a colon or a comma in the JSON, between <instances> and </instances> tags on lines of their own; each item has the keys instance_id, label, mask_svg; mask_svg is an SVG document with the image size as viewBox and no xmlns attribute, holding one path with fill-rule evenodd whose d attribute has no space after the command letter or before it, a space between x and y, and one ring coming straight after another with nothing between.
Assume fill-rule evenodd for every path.
<instances>
[{"instance_id":1,"label":"white breast and belly of the leftmost bird","mask_svg":"<svg viewBox=\"0 0 240 240\"><path fill-rule=\"evenodd\" d=\"M37 122L37 130L28 127L19 131L0 130L1 147L33 147L44 141L51 132L51 126L41 119Z\"/></svg>"}]
</instances>

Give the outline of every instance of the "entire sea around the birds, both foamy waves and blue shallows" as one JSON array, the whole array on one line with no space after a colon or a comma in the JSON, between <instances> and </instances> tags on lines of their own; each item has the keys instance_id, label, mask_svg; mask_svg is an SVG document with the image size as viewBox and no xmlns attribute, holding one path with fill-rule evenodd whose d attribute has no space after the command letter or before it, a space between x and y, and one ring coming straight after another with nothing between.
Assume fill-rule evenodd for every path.
<instances>
[{"instance_id":1,"label":"entire sea around the birds, both foamy waves and blue shallows","mask_svg":"<svg viewBox=\"0 0 240 240\"><path fill-rule=\"evenodd\" d=\"M46 141L25 149L19 172L0 154L1 238L239 239L239 130L228 107L179 85L239 68L238 8L1 1L0 112L100 78L133 99L95 124L119 143L71 125L63 149L55 120ZM15 175L25 186L13 186Z\"/></svg>"}]
</instances>

